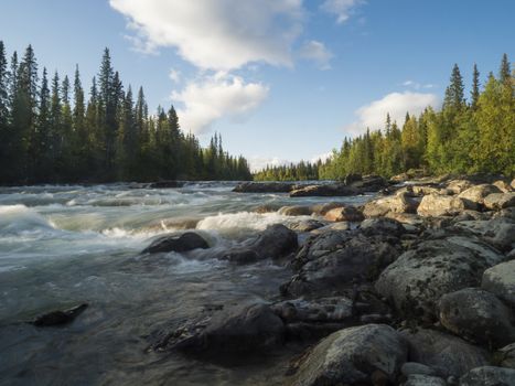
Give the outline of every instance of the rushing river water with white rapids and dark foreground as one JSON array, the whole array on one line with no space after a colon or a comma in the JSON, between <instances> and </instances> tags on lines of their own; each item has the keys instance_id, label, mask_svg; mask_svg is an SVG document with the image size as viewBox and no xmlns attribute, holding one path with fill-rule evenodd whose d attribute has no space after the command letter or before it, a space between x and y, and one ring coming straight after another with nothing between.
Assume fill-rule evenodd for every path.
<instances>
[{"instance_id":1,"label":"rushing river water with white rapids and dark foreground","mask_svg":"<svg viewBox=\"0 0 515 386\"><path fill-rule=\"evenodd\" d=\"M189 228L227 247L301 218L254 213L259 205L328 200L237 194L234 183L131 187L0 189L0 385L280 384L285 350L227 364L144 349L151 331L206 305L277 298L288 269L271 261L234 267L205 253L139 251L158 235ZM71 325L24 323L82 302L90 305Z\"/></svg>"}]
</instances>

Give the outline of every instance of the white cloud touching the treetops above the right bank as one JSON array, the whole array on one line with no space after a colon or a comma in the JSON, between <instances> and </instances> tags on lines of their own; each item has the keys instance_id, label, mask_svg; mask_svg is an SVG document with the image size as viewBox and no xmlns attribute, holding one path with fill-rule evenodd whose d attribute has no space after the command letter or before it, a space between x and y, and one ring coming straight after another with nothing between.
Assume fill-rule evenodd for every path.
<instances>
[{"instance_id":1,"label":"white cloud touching the treetops above the right bank","mask_svg":"<svg viewBox=\"0 0 515 386\"><path fill-rule=\"evenodd\" d=\"M345 131L352 136L358 136L367 128L382 129L385 126L386 115L389 114L391 121L404 122L406 112L418 115L428 106L436 107L439 98L434 94L422 93L391 93L382 99L374 100L369 105L358 108L355 114L357 120L347 127Z\"/></svg>"}]
</instances>

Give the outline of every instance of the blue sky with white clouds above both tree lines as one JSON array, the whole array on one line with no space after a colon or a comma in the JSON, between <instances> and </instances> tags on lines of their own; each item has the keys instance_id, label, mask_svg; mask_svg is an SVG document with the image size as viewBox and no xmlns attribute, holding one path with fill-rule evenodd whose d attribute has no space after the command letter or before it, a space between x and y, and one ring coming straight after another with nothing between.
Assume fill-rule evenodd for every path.
<instances>
[{"instance_id":1,"label":"blue sky with white clouds above both tree lines","mask_svg":"<svg viewBox=\"0 0 515 386\"><path fill-rule=\"evenodd\" d=\"M344 137L441 104L454 63L469 89L515 57L513 0L0 0L8 54L89 87L109 47L151 110L259 169L315 160Z\"/></svg>"}]
</instances>

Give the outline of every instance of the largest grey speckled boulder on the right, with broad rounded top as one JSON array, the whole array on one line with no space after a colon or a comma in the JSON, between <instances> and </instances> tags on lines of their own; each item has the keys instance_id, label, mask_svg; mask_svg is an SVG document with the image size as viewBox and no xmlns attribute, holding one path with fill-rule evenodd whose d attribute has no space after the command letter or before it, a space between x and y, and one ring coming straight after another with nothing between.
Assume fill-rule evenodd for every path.
<instances>
[{"instance_id":1,"label":"largest grey speckled boulder on the right, with broad rounded top","mask_svg":"<svg viewBox=\"0 0 515 386\"><path fill-rule=\"evenodd\" d=\"M478 287L483 271L503 259L473 236L442 232L404 253L379 275L375 288L406 318L432 322L443 294Z\"/></svg>"}]
</instances>

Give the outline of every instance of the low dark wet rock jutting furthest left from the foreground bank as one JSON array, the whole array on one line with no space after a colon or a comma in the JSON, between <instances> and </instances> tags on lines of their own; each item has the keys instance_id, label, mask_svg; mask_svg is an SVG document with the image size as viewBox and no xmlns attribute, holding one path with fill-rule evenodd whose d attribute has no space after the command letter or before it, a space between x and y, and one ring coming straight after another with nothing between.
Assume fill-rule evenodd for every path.
<instances>
[{"instance_id":1,"label":"low dark wet rock jutting furthest left from the foreground bank","mask_svg":"<svg viewBox=\"0 0 515 386\"><path fill-rule=\"evenodd\" d=\"M172 331L153 335L153 351L245 354L282 344L285 324L267 304L244 304L201 315Z\"/></svg>"}]
</instances>

